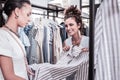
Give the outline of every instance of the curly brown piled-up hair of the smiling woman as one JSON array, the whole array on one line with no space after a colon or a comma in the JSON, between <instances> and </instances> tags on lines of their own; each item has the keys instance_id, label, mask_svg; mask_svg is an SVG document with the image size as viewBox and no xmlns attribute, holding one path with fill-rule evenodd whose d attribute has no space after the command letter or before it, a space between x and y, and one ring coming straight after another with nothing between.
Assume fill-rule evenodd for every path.
<instances>
[{"instance_id":1,"label":"curly brown piled-up hair of the smiling woman","mask_svg":"<svg viewBox=\"0 0 120 80\"><path fill-rule=\"evenodd\" d=\"M83 34L83 26L82 26L82 18L81 18L81 11L77 8L77 6L71 5L67 8L64 12L64 21L70 17L74 18L77 24L81 24L80 32Z\"/></svg>"}]
</instances>

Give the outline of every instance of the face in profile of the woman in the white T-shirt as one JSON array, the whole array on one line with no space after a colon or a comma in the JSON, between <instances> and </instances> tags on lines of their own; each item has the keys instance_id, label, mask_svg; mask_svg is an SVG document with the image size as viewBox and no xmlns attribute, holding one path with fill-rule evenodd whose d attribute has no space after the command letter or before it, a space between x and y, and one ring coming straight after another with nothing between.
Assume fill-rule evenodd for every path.
<instances>
[{"instance_id":1,"label":"face in profile of the woman in the white T-shirt","mask_svg":"<svg viewBox=\"0 0 120 80\"><path fill-rule=\"evenodd\" d=\"M24 27L30 22L32 7L31 5L25 3L19 11L18 25Z\"/></svg>"}]
</instances>

